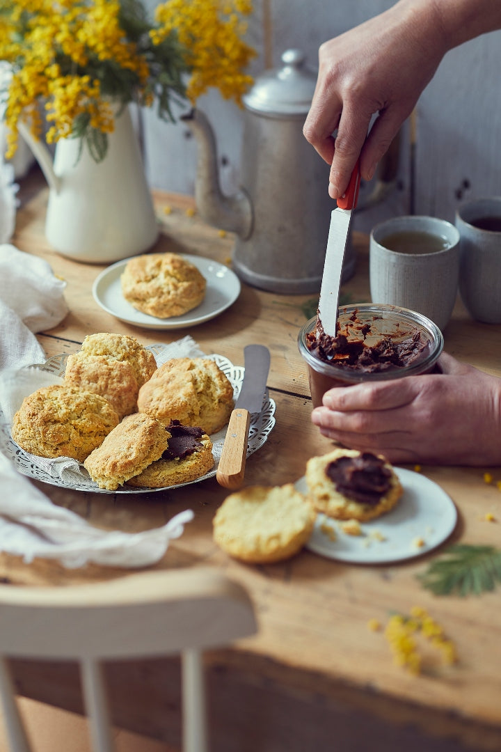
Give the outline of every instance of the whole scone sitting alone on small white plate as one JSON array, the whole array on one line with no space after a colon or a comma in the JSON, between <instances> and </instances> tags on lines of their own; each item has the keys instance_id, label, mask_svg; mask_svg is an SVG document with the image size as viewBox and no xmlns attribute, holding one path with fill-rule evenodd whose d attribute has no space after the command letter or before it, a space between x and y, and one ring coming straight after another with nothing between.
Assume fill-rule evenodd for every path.
<instances>
[{"instance_id":1,"label":"whole scone sitting alone on small white plate","mask_svg":"<svg viewBox=\"0 0 501 752\"><path fill-rule=\"evenodd\" d=\"M122 295L137 311L168 319L200 305L207 280L177 253L145 253L129 259L122 277Z\"/></svg>"}]
</instances>

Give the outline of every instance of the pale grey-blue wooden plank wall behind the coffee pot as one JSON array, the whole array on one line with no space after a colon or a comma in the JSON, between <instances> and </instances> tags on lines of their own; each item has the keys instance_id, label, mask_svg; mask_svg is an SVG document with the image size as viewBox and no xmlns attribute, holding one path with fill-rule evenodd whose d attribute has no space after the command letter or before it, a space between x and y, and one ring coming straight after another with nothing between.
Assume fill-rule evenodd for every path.
<instances>
[{"instance_id":1,"label":"pale grey-blue wooden plank wall behind the coffee pot","mask_svg":"<svg viewBox=\"0 0 501 752\"><path fill-rule=\"evenodd\" d=\"M394 3L391 0L255 0L248 38L258 51L251 73L279 67L291 47L318 64L322 41L356 26ZM155 0L149 0L154 8ZM210 118L219 150L222 189L240 184L244 113L211 91L198 102ZM162 123L143 111L143 147L150 186L194 191L197 146L183 123ZM400 134L394 190L373 208L358 211L355 229L369 232L396 214L430 214L454 221L469 198L501 195L501 32L451 50L423 92ZM411 138L412 135L412 138ZM326 173L326 190L327 190ZM372 186L363 186L367 196ZM363 203L363 201L362 201Z\"/></svg>"}]
</instances>

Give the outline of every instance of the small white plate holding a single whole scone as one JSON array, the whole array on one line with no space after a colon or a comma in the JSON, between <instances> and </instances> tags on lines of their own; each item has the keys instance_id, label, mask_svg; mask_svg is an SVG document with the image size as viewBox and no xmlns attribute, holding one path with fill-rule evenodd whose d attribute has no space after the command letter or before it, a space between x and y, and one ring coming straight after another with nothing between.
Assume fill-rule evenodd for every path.
<instances>
[{"instance_id":1,"label":"small white plate holding a single whole scone","mask_svg":"<svg viewBox=\"0 0 501 752\"><path fill-rule=\"evenodd\" d=\"M96 277L92 285L95 302L108 314L134 326L142 326L144 329L183 329L185 326L195 326L219 316L237 300L240 295L240 280L228 266L212 259L205 259L203 256L192 256L189 253L179 255L195 264L207 280L204 300L187 314L158 319L133 308L122 296L120 284L122 271L130 259L117 261Z\"/></svg>"}]
</instances>

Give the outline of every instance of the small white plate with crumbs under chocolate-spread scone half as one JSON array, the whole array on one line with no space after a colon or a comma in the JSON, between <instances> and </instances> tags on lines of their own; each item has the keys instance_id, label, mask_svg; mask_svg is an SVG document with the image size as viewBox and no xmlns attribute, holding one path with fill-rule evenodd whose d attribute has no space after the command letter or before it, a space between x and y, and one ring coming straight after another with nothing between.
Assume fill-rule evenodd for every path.
<instances>
[{"instance_id":1,"label":"small white plate with crumbs under chocolate-spread scone half","mask_svg":"<svg viewBox=\"0 0 501 752\"><path fill-rule=\"evenodd\" d=\"M391 512L361 522L362 535L347 535L341 520L318 514L306 547L337 561L385 564L422 556L443 543L457 522L452 499L425 475L405 468L394 470L403 486L403 496ZM306 493L305 478L295 485ZM333 529L334 540L322 526ZM417 541L422 541L422 545L418 546Z\"/></svg>"}]
</instances>

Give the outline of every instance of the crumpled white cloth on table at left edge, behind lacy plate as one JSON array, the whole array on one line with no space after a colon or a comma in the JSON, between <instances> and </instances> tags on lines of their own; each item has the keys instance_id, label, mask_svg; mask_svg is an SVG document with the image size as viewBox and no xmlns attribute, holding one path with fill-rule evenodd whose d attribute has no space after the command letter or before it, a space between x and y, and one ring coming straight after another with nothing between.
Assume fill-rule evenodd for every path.
<instances>
[{"instance_id":1,"label":"crumpled white cloth on table at left edge, behind lacy plate","mask_svg":"<svg viewBox=\"0 0 501 752\"><path fill-rule=\"evenodd\" d=\"M0 245L0 368L44 361L35 332L65 318L65 287L44 259Z\"/></svg>"}]
</instances>

